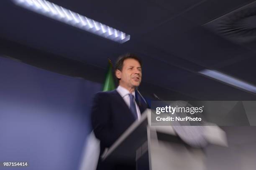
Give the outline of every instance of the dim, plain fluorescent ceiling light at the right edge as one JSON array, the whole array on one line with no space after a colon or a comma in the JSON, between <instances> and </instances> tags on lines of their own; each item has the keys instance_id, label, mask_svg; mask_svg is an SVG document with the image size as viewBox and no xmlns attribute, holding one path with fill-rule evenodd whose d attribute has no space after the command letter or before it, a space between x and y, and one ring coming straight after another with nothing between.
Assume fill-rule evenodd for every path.
<instances>
[{"instance_id":1,"label":"dim, plain fluorescent ceiling light at the right edge","mask_svg":"<svg viewBox=\"0 0 256 170\"><path fill-rule=\"evenodd\" d=\"M256 93L256 87L254 85L251 85L247 82L238 80L238 79L231 77L230 75L226 75L222 72L218 72L216 70L205 69L205 70L200 71L199 73L206 75L208 77L212 77L216 80L220 80L221 82L225 82L229 85L233 85L235 87L241 88L243 90L253 92L254 94Z\"/></svg>"}]
</instances>

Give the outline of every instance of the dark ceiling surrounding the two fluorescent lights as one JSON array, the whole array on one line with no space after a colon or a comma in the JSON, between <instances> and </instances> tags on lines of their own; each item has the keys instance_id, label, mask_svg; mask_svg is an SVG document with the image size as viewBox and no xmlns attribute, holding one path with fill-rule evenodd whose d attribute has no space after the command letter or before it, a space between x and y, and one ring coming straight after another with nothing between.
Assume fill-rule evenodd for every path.
<instances>
[{"instance_id":1,"label":"dark ceiling surrounding the two fluorescent lights","mask_svg":"<svg viewBox=\"0 0 256 170\"><path fill-rule=\"evenodd\" d=\"M90 65L91 70L83 74L104 77L97 70L104 72L108 58L115 60L132 52L143 60L143 83L152 86L152 93L161 89L197 100L256 100L253 93L197 73L214 69L256 85L255 43L239 43L212 29L216 20L252 0L49 1L126 32L131 40L119 44L2 0L0 38L10 57L36 50L41 53L38 56L47 54L73 65ZM18 49L23 50L13 52ZM31 65L44 68L62 67L65 72L63 65L51 62L51 57L40 65L35 56L36 52L23 57L24 62L30 60ZM172 100L172 96L167 99Z\"/></svg>"}]
</instances>

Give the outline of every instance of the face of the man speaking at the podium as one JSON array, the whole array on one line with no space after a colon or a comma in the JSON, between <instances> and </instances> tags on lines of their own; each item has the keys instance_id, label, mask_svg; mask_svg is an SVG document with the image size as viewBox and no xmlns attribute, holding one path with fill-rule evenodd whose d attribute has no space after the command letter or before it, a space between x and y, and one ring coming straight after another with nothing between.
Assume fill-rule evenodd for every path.
<instances>
[{"instance_id":1,"label":"face of the man speaking at the podium","mask_svg":"<svg viewBox=\"0 0 256 170\"><path fill-rule=\"evenodd\" d=\"M138 87L141 84L141 65L133 59L128 58L123 61L123 70L116 70L116 77L120 79L119 84L125 88Z\"/></svg>"}]
</instances>

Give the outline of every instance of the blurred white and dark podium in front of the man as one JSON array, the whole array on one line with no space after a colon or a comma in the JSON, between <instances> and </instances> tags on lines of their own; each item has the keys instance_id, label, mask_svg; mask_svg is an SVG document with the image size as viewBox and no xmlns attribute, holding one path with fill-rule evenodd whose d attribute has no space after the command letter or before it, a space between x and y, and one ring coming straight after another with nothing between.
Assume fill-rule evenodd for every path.
<instances>
[{"instance_id":1,"label":"blurred white and dark podium in front of the man","mask_svg":"<svg viewBox=\"0 0 256 170\"><path fill-rule=\"evenodd\" d=\"M220 129L214 133L214 137L208 134L210 139L225 146L225 133ZM185 143L172 126L151 126L150 109L105 150L102 162L136 164L137 170L206 169L203 149Z\"/></svg>"}]
</instances>

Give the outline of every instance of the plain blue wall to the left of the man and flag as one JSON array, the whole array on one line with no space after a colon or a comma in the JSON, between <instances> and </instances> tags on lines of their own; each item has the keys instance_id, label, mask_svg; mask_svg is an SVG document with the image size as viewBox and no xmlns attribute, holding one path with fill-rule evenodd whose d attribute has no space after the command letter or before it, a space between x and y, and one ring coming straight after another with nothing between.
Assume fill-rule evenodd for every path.
<instances>
[{"instance_id":1,"label":"plain blue wall to the left of the man and flag","mask_svg":"<svg viewBox=\"0 0 256 170\"><path fill-rule=\"evenodd\" d=\"M0 57L0 162L76 170L101 85Z\"/></svg>"}]
</instances>

